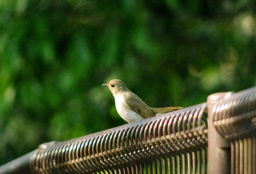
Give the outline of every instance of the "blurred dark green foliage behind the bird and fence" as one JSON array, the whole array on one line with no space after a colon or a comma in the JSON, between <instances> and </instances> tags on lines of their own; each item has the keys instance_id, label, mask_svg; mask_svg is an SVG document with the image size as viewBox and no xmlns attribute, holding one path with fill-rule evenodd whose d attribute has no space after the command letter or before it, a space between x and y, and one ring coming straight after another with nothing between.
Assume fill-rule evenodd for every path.
<instances>
[{"instance_id":1,"label":"blurred dark green foliage behind the bird and fence","mask_svg":"<svg viewBox=\"0 0 256 174\"><path fill-rule=\"evenodd\" d=\"M0 0L0 165L125 124L112 78L151 107L252 87L255 2Z\"/></svg>"}]
</instances>

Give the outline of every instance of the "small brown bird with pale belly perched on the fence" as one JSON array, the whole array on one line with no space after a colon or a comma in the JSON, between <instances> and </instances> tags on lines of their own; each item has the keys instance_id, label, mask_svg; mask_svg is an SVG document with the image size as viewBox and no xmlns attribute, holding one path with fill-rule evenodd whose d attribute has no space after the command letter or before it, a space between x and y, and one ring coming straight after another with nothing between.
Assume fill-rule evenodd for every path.
<instances>
[{"instance_id":1,"label":"small brown bird with pale belly perched on the fence","mask_svg":"<svg viewBox=\"0 0 256 174\"><path fill-rule=\"evenodd\" d=\"M183 107L148 107L143 100L131 92L125 83L119 79L112 79L108 84L102 84L112 92L115 107L122 119L128 123L137 122L143 119L154 117L162 113L168 113Z\"/></svg>"}]
</instances>

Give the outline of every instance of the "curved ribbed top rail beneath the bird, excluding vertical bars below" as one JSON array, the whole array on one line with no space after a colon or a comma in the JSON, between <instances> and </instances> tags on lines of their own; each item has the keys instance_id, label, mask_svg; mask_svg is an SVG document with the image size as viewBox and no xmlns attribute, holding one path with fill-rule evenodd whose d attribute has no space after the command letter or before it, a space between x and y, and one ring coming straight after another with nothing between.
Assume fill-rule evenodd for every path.
<instances>
[{"instance_id":1,"label":"curved ribbed top rail beneath the bird, excluding vertical bars below","mask_svg":"<svg viewBox=\"0 0 256 174\"><path fill-rule=\"evenodd\" d=\"M107 131L51 143L32 156L32 171L99 171L207 147L207 103Z\"/></svg>"}]
</instances>

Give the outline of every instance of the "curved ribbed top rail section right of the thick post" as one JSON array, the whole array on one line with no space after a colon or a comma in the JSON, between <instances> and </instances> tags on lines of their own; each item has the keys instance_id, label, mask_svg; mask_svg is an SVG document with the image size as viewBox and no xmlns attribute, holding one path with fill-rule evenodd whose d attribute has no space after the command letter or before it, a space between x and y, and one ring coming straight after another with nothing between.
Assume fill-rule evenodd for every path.
<instances>
[{"instance_id":1,"label":"curved ribbed top rail section right of the thick post","mask_svg":"<svg viewBox=\"0 0 256 174\"><path fill-rule=\"evenodd\" d=\"M214 126L227 140L255 136L256 87L220 100L212 112Z\"/></svg>"}]
</instances>

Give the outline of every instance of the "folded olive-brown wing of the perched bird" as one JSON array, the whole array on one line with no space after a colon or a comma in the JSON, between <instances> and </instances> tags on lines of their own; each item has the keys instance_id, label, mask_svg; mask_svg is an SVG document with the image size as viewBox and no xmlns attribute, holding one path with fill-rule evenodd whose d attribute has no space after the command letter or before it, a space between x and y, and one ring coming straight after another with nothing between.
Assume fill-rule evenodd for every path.
<instances>
[{"instance_id":1,"label":"folded olive-brown wing of the perched bird","mask_svg":"<svg viewBox=\"0 0 256 174\"><path fill-rule=\"evenodd\" d=\"M155 116L155 113L150 109L150 107L148 107L148 105L134 93L130 92L125 94L125 105L135 113L143 116L145 119Z\"/></svg>"}]
</instances>

